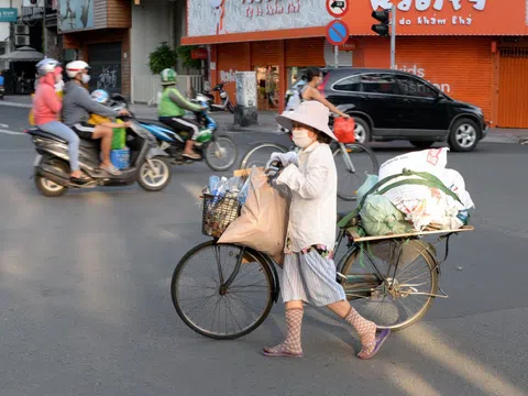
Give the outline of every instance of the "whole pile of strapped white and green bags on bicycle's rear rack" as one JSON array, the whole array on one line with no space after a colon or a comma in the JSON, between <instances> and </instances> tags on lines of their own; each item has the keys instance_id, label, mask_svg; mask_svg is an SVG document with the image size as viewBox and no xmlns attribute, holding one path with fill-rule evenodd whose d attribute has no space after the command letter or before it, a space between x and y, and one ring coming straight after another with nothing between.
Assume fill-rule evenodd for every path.
<instances>
[{"instance_id":1,"label":"whole pile of strapped white and green bags on bicycle's rear rack","mask_svg":"<svg viewBox=\"0 0 528 396\"><path fill-rule=\"evenodd\" d=\"M367 235L458 230L474 208L462 175L446 168L448 148L397 156L358 190L355 215Z\"/></svg>"}]
</instances>

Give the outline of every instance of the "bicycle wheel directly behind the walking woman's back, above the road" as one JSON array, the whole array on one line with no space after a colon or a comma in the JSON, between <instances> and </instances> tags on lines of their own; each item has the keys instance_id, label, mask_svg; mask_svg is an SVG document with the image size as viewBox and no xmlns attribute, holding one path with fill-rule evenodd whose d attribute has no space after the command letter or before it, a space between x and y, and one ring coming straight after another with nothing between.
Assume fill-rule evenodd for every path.
<instances>
[{"instance_id":1,"label":"bicycle wheel directly behind the walking woman's back, above the road","mask_svg":"<svg viewBox=\"0 0 528 396\"><path fill-rule=\"evenodd\" d=\"M333 151L338 169L338 197L354 201L358 189L365 183L367 175L377 175L380 165L374 152L364 144L340 144Z\"/></svg>"}]
</instances>

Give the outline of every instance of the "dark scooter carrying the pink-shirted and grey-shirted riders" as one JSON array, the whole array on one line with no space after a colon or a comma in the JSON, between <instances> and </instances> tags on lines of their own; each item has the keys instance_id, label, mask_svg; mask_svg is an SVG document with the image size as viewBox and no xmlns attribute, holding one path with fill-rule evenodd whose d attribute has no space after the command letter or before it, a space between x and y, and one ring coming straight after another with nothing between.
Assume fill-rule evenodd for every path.
<instances>
[{"instance_id":1,"label":"dark scooter carrying the pink-shirted and grey-shirted riders","mask_svg":"<svg viewBox=\"0 0 528 396\"><path fill-rule=\"evenodd\" d=\"M68 143L38 129L28 130L37 156L34 162L35 186L46 197L59 197L68 188L95 188L98 186L130 186L135 182L146 191L163 190L172 178L168 155L160 150L156 139L136 120L127 130L130 164L122 174L113 176L99 168L99 141L80 140L79 165L90 177L80 185L69 178Z\"/></svg>"}]
</instances>

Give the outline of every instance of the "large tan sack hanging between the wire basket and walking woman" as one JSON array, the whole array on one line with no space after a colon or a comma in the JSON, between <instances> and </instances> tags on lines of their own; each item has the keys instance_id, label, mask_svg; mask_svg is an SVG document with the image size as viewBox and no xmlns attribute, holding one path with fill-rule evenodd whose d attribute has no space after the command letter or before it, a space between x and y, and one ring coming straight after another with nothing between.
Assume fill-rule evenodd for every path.
<instances>
[{"instance_id":1,"label":"large tan sack hanging between the wire basket and walking woman","mask_svg":"<svg viewBox=\"0 0 528 396\"><path fill-rule=\"evenodd\" d=\"M267 184L264 170L251 173L248 200L240 217L219 239L219 243L239 243L266 253L277 263L284 258L289 200Z\"/></svg>"}]
</instances>

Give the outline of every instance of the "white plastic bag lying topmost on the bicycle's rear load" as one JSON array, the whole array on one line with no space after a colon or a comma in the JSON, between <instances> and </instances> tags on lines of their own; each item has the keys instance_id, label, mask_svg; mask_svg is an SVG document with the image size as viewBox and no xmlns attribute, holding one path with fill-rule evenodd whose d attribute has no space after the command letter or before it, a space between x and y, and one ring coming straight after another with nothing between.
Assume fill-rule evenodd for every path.
<instances>
[{"instance_id":1,"label":"white plastic bag lying topmost on the bicycle's rear load","mask_svg":"<svg viewBox=\"0 0 528 396\"><path fill-rule=\"evenodd\" d=\"M391 158L380 166L380 180L400 174L404 169L427 172L441 177L448 164L449 148L431 148L407 153Z\"/></svg>"}]
</instances>

